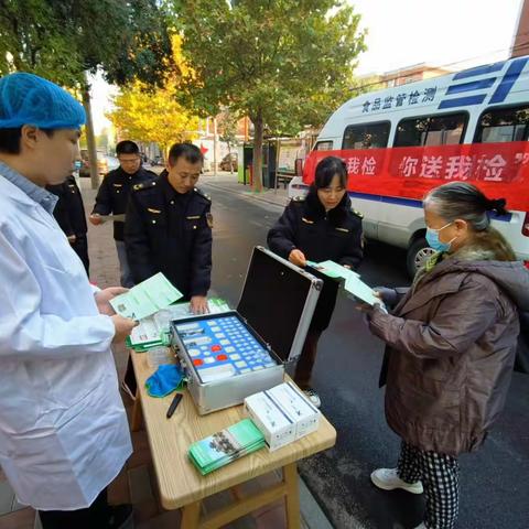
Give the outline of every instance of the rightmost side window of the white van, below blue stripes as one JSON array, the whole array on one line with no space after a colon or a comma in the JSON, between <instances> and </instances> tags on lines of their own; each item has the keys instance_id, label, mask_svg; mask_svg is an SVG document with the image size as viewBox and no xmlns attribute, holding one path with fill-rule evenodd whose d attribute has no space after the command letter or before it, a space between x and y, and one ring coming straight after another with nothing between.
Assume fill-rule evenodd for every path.
<instances>
[{"instance_id":1,"label":"rightmost side window of the white van, below blue stripes","mask_svg":"<svg viewBox=\"0 0 529 529\"><path fill-rule=\"evenodd\" d=\"M475 143L526 141L529 131L529 106L485 110L476 129Z\"/></svg>"}]
</instances>

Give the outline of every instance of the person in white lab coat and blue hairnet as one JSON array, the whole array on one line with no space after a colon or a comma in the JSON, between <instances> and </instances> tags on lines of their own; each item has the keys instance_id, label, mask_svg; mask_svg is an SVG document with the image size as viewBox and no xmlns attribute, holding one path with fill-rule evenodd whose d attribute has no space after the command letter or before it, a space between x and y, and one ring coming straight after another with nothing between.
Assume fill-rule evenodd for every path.
<instances>
[{"instance_id":1,"label":"person in white lab coat and blue hairnet","mask_svg":"<svg viewBox=\"0 0 529 529\"><path fill-rule=\"evenodd\" d=\"M79 156L83 106L32 74L0 79L0 465L44 529L117 529L107 486L132 452L110 344L136 322L99 290L53 218ZM130 527L130 526L127 526Z\"/></svg>"}]
</instances>

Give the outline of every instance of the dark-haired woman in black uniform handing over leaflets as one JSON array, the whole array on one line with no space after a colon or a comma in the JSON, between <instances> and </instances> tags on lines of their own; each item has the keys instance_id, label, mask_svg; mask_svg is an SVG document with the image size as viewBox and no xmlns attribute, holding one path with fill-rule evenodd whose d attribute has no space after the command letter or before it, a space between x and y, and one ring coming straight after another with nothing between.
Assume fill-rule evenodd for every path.
<instances>
[{"instance_id":1,"label":"dark-haired woman in black uniform handing over leaflets","mask_svg":"<svg viewBox=\"0 0 529 529\"><path fill-rule=\"evenodd\" d=\"M305 267L307 260L332 260L356 269L363 258L361 240L361 215L350 207L347 169L336 156L325 158L317 164L307 195L292 199L268 234L269 248L299 267ZM324 287L298 360L294 380L312 402L320 406L320 397L311 388L311 373L317 341L333 315L338 283L314 273L324 279Z\"/></svg>"}]
</instances>

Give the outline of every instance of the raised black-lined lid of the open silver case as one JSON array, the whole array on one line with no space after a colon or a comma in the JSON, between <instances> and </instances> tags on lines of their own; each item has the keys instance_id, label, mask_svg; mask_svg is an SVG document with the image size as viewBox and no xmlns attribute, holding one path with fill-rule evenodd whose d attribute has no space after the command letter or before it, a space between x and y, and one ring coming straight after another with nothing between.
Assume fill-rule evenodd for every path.
<instances>
[{"instance_id":1,"label":"raised black-lined lid of the open silver case","mask_svg":"<svg viewBox=\"0 0 529 529\"><path fill-rule=\"evenodd\" d=\"M301 354L323 281L256 246L237 312L283 360Z\"/></svg>"}]
</instances>

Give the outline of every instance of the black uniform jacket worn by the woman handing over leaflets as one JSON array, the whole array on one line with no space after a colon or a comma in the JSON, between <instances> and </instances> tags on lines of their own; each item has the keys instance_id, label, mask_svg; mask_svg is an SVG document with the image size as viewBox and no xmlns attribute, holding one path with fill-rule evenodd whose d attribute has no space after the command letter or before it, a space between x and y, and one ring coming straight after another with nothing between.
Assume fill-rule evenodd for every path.
<instances>
[{"instance_id":1,"label":"black uniform jacket worn by the woman handing over leaflets","mask_svg":"<svg viewBox=\"0 0 529 529\"><path fill-rule=\"evenodd\" d=\"M268 233L268 246L284 259L296 248L310 261L333 260L356 269L363 259L361 237L361 215L352 209L347 195L325 213L315 190L311 190L306 198L296 197L285 207ZM313 269L310 272L324 280L311 322L311 331L317 332L328 326L338 283Z\"/></svg>"}]
</instances>

